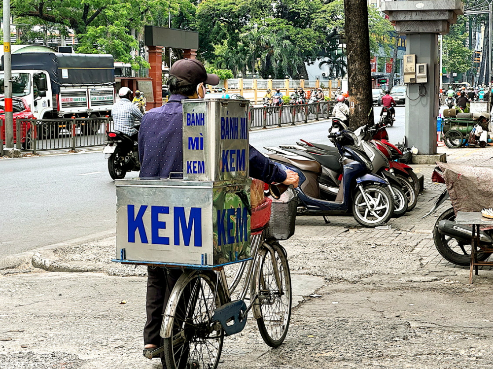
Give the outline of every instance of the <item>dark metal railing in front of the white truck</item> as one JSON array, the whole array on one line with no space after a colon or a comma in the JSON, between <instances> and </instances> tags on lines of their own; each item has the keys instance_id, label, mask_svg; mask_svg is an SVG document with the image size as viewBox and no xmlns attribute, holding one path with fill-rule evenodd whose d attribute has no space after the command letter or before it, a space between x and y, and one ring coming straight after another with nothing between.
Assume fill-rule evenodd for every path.
<instances>
[{"instance_id":1,"label":"dark metal railing in front of the white truck","mask_svg":"<svg viewBox=\"0 0 493 369\"><path fill-rule=\"evenodd\" d=\"M17 119L17 128L29 127L22 148L33 151L102 146L113 129L111 117ZM20 140L17 140L19 142ZM18 143L19 145L19 143ZM19 147L19 146L18 146Z\"/></svg>"}]
</instances>

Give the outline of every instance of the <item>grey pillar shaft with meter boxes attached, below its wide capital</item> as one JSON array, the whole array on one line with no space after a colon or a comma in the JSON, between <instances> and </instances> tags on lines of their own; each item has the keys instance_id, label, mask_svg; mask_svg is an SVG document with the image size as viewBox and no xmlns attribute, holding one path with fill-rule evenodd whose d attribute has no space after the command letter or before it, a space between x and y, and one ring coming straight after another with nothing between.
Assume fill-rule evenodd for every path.
<instances>
[{"instance_id":1,"label":"grey pillar shaft with meter boxes attached, below its wide capital","mask_svg":"<svg viewBox=\"0 0 493 369\"><path fill-rule=\"evenodd\" d=\"M417 63L428 66L427 83L407 85L406 137L409 147L419 149L420 154L436 154L436 117L439 101L438 88L438 34L408 34L407 54L416 54ZM421 94L420 96L420 86ZM424 93L424 89L426 92Z\"/></svg>"}]
</instances>

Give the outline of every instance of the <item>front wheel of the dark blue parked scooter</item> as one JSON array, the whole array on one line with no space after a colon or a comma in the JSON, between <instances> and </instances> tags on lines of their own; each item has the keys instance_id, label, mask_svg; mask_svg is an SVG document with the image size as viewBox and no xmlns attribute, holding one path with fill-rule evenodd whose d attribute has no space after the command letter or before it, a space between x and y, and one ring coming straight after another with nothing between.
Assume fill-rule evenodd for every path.
<instances>
[{"instance_id":1,"label":"front wheel of the dark blue parked scooter","mask_svg":"<svg viewBox=\"0 0 493 369\"><path fill-rule=\"evenodd\" d=\"M364 227L373 228L388 222L394 213L394 199L387 188L375 184L363 186L372 209L368 206L359 188L355 188L352 201L352 216Z\"/></svg>"}]
</instances>

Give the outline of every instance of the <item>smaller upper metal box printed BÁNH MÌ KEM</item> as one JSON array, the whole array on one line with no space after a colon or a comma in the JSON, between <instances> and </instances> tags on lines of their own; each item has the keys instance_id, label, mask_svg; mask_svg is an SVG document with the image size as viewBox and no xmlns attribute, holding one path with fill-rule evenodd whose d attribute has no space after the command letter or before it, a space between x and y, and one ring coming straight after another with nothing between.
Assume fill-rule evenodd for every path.
<instances>
[{"instance_id":1,"label":"smaller upper metal box printed B\u00c1NH M\u00cc KEM","mask_svg":"<svg viewBox=\"0 0 493 369\"><path fill-rule=\"evenodd\" d=\"M248 108L243 100L183 101L183 179L248 178Z\"/></svg>"}]
</instances>

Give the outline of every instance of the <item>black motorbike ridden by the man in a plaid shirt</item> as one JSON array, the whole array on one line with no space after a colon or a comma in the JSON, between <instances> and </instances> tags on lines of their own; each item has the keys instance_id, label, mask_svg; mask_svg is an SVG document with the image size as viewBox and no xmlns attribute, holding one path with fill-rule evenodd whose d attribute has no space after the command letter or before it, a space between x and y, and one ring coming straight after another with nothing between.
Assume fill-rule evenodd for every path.
<instances>
[{"instance_id":1,"label":"black motorbike ridden by the man in a plaid shirt","mask_svg":"<svg viewBox=\"0 0 493 369\"><path fill-rule=\"evenodd\" d=\"M139 130L140 124L134 126ZM118 131L106 132L108 140L103 150L108 159L108 171L112 179L122 179L129 171L140 171L139 147L128 134Z\"/></svg>"}]
</instances>

